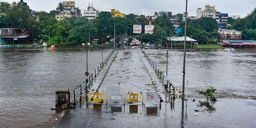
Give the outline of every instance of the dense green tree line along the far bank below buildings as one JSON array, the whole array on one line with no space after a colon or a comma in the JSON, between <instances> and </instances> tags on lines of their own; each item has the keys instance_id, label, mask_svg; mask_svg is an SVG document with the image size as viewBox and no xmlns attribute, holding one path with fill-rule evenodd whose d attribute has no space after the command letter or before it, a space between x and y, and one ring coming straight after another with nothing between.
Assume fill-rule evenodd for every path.
<instances>
[{"instance_id":1,"label":"dense green tree line along the far bank below buildings","mask_svg":"<svg viewBox=\"0 0 256 128\"><path fill-rule=\"evenodd\" d=\"M126 18L111 17L111 13L101 11L95 19L88 20L85 17L71 17L60 21L55 19L56 11L52 10L49 13L40 11L40 21L35 21L26 7L20 3L0 2L0 28L26 28L30 30L30 38L37 38L48 42L50 35L50 43L58 43L60 45L77 45L89 41L91 39L99 39L107 41L107 36L113 37L114 23L116 25L116 35L132 34L133 25L148 25L146 19L135 19L134 14L126 15ZM58 5L58 9L62 10L63 5ZM256 37L256 8L247 15L246 18L233 20L229 18L232 26L228 28L242 31L244 39L253 39ZM183 29L180 36L184 36L185 22L182 21L183 15L178 13L180 17L180 27ZM187 36L198 40L198 42L217 42L220 36L217 32L218 25L215 19L204 17L196 20L188 19ZM173 23L166 14L156 18L154 25L154 34L137 34L138 37L143 37L143 41L159 42L161 36L175 35ZM134 36L135 37L135 36Z\"/></svg>"}]
</instances>

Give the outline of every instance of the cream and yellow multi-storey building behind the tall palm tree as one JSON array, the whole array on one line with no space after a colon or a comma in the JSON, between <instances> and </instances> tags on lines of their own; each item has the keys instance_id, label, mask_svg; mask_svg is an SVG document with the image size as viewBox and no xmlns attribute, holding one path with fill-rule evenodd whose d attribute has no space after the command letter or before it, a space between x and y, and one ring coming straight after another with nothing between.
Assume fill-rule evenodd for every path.
<instances>
[{"instance_id":1,"label":"cream and yellow multi-storey building behind the tall palm tree","mask_svg":"<svg viewBox=\"0 0 256 128\"><path fill-rule=\"evenodd\" d=\"M56 8L56 20L62 20L64 18L70 18L70 17L81 17L81 10L78 7L75 7L74 1L63 1L62 4L64 5L65 9L60 12Z\"/></svg>"}]
</instances>

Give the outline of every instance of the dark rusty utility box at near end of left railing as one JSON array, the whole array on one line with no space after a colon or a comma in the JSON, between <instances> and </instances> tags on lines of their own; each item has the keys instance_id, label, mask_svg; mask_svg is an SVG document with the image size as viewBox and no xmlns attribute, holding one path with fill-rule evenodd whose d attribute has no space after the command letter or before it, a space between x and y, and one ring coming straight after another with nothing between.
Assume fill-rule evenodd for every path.
<instances>
[{"instance_id":1,"label":"dark rusty utility box at near end of left railing","mask_svg":"<svg viewBox=\"0 0 256 128\"><path fill-rule=\"evenodd\" d=\"M56 108L66 109L67 106L69 106L69 104L70 104L70 92L69 91L56 91L55 96L56 96L56 101L55 101Z\"/></svg>"}]
</instances>

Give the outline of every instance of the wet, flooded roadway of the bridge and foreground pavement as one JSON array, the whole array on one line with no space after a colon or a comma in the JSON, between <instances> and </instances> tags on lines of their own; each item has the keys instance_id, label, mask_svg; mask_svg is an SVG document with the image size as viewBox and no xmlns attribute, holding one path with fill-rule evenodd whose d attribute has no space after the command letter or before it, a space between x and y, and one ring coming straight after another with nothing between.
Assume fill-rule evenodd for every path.
<instances>
[{"instance_id":1,"label":"wet, flooded roadway of the bridge and foreground pavement","mask_svg":"<svg viewBox=\"0 0 256 128\"><path fill-rule=\"evenodd\" d=\"M113 59L114 57L112 57ZM109 62L110 63L110 62ZM109 65L108 63L108 65ZM146 66L144 66L144 63ZM154 91L147 73L149 63L140 50L120 50L105 77L99 93L127 93ZM102 74L108 69L101 70ZM154 73L153 69L150 69ZM99 76L99 75L98 75ZM100 77L100 76L99 76ZM129 77L129 78L127 78ZM157 85L161 82L156 79ZM99 78L91 89L97 88ZM164 97L164 87L159 86ZM146 101L141 104L90 103L79 104L65 115L58 124L62 127L254 127L256 125L256 102L252 99L218 99L208 103L196 98L182 102L180 98L163 102ZM165 100L164 100L165 101ZM194 116L194 110L199 111Z\"/></svg>"}]
</instances>

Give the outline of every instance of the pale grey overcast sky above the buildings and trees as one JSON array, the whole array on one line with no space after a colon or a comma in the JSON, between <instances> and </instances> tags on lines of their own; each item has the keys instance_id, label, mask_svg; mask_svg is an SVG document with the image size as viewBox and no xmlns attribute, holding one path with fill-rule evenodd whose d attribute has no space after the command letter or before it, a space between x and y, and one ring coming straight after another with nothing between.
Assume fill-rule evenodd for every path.
<instances>
[{"instance_id":1,"label":"pale grey overcast sky above the buildings and trees","mask_svg":"<svg viewBox=\"0 0 256 128\"><path fill-rule=\"evenodd\" d=\"M19 0L0 0L1 2L19 2ZM30 9L36 11L55 10L60 0L23 0L27 2ZM172 11L172 14L185 12L185 0L71 0L76 2L82 12L87 9L88 2L93 2L93 7L100 11L110 11L115 8L122 13L138 13L144 15L154 15L158 11ZM188 0L188 15L196 16L197 8L205 8L206 4L215 6L217 11L229 13L230 15L240 15L245 17L256 7L256 0Z\"/></svg>"}]
</instances>

